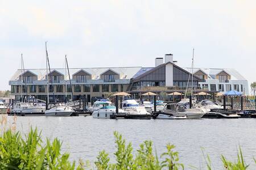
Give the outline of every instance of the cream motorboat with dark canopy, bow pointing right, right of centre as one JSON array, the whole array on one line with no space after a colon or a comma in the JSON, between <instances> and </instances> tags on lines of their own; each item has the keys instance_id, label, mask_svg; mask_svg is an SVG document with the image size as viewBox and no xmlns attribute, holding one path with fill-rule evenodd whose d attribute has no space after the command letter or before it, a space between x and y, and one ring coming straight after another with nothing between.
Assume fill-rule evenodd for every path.
<instances>
[{"instance_id":1,"label":"cream motorboat with dark canopy, bow pointing right, right of centre","mask_svg":"<svg viewBox=\"0 0 256 170\"><path fill-rule=\"evenodd\" d=\"M174 117L187 117L188 119L199 119L204 116L204 111L200 108L187 109L185 105L167 104L160 114L170 114Z\"/></svg>"}]
</instances>

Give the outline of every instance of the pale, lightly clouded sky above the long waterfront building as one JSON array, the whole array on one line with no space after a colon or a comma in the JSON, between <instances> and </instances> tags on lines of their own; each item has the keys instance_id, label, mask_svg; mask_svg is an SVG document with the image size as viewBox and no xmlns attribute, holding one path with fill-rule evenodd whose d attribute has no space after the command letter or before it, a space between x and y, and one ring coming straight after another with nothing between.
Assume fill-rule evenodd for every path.
<instances>
[{"instance_id":1,"label":"pale, lightly clouded sky above the long waterfront building","mask_svg":"<svg viewBox=\"0 0 256 170\"><path fill-rule=\"evenodd\" d=\"M0 90L21 67L155 65L174 54L181 67L238 70L256 81L256 1L0 0Z\"/></svg>"}]
</instances>

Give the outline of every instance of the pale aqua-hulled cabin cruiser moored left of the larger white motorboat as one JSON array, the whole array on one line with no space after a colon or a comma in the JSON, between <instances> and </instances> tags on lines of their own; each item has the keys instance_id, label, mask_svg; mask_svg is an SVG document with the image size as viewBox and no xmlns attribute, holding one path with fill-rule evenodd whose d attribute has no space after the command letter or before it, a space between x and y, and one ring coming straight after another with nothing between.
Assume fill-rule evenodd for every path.
<instances>
[{"instance_id":1,"label":"pale aqua-hulled cabin cruiser moored left of the larger white motorboat","mask_svg":"<svg viewBox=\"0 0 256 170\"><path fill-rule=\"evenodd\" d=\"M110 104L108 101L98 102L98 109L94 110L92 113L93 118L110 118L111 114L116 114L115 106ZM118 114L125 114L126 112L122 109L118 109Z\"/></svg>"}]
</instances>

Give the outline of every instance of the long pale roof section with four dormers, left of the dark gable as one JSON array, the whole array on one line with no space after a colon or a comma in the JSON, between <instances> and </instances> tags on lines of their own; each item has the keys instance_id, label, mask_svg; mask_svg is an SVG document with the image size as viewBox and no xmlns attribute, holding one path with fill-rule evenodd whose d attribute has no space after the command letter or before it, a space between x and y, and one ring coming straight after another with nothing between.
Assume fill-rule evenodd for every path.
<instances>
[{"instance_id":1,"label":"long pale roof section with four dormers, left of the dark gable","mask_svg":"<svg viewBox=\"0 0 256 170\"><path fill-rule=\"evenodd\" d=\"M142 67L98 67L98 68L69 68L69 73L72 76L77 73L77 71L84 70L87 73L92 75L92 79L100 79L100 75L107 70L113 70L115 73L120 75L120 79L131 79ZM31 71L32 73L38 75L38 80L46 79L46 69L25 69L25 71ZM59 73L65 75L65 69L54 69ZM18 80L21 70L18 69L15 71L14 75L10 80ZM48 71L49 73L49 71Z\"/></svg>"}]
</instances>

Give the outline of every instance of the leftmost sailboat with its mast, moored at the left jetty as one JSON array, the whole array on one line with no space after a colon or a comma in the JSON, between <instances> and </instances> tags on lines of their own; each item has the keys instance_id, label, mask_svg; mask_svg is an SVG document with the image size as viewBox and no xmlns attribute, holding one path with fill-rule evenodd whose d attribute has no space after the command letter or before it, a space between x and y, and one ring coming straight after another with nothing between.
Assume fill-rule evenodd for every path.
<instances>
[{"instance_id":1,"label":"leftmost sailboat with its mast, moored at the left jetty","mask_svg":"<svg viewBox=\"0 0 256 170\"><path fill-rule=\"evenodd\" d=\"M23 74L25 73L24 70L24 61L23 61L23 56L21 54L21 79L22 79L22 84L21 84L21 101L19 103L15 103L12 113L16 114L33 114L33 113L44 113L46 111L46 108L43 105L39 105L38 103L31 103L31 102L24 102L23 100L23 82L25 83L25 92L26 92L26 99L28 99L27 95L27 83L26 80L23 78Z\"/></svg>"}]
</instances>

